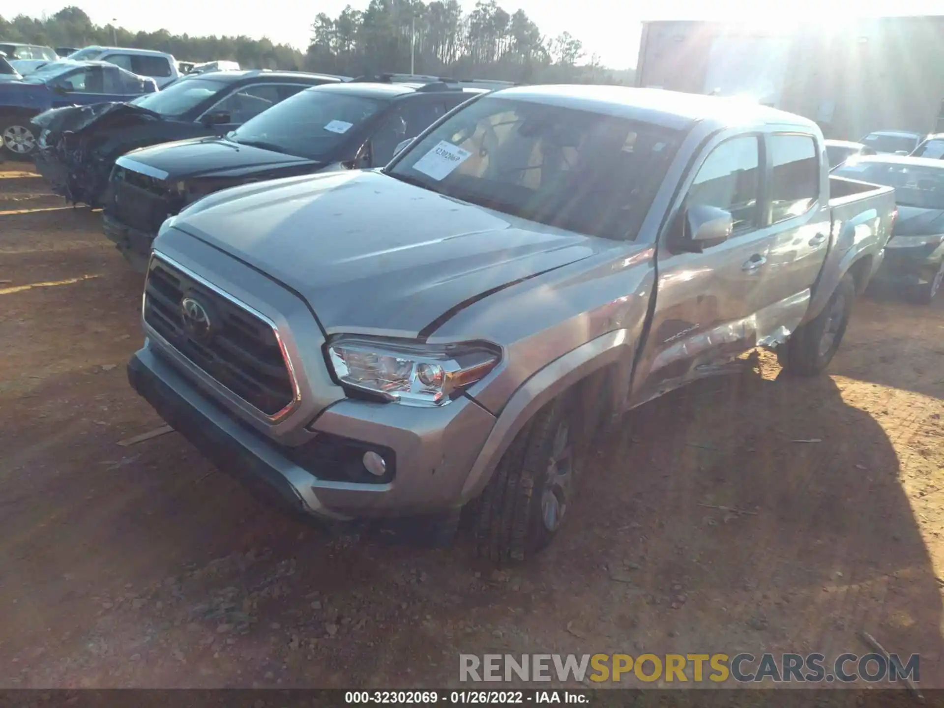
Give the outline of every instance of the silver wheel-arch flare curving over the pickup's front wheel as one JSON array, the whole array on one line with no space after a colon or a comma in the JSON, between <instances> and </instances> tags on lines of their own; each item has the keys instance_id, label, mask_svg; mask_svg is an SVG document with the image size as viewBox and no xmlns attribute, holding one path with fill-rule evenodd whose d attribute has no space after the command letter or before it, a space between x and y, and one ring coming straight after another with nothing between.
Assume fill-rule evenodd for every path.
<instances>
[{"instance_id":1,"label":"silver wheel-arch flare curving over the pickup's front wheel","mask_svg":"<svg viewBox=\"0 0 944 708\"><path fill-rule=\"evenodd\" d=\"M615 329L548 363L521 384L502 409L465 479L462 503L481 494L501 456L511 446L514 436L535 413L582 379L612 364L615 364L618 375L609 387L610 400L605 403L610 404L610 410L616 410L620 394L625 396L629 386L634 353L635 346L630 340L629 330Z\"/></svg>"}]
</instances>

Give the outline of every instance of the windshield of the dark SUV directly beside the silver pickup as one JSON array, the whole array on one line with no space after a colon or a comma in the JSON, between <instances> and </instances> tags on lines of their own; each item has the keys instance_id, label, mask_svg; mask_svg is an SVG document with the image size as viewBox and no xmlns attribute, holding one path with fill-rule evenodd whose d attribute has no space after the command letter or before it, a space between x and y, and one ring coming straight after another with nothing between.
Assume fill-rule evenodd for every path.
<instances>
[{"instance_id":1,"label":"windshield of the dark SUV directly beside the silver pickup","mask_svg":"<svg viewBox=\"0 0 944 708\"><path fill-rule=\"evenodd\" d=\"M349 130L356 129L386 104L387 101L375 98L310 89L261 112L228 137L236 143L325 160L344 143Z\"/></svg>"}]
</instances>

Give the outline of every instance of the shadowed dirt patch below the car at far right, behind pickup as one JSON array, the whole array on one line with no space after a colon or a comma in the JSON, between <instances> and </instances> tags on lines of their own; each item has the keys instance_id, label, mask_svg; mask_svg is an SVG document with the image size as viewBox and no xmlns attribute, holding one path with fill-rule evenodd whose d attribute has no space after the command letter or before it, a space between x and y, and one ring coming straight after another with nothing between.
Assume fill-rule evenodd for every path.
<instances>
[{"instance_id":1,"label":"shadowed dirt patch below the car at far right, behind pickup","mask_svg":"<svg viewBox=\"0 0 944 708\"><path fill-rule=\"evenodd\" d=\"M895 294L859 300L829 372L944 398L944 296L928 306Z\"/></svg>"}]
</instances>

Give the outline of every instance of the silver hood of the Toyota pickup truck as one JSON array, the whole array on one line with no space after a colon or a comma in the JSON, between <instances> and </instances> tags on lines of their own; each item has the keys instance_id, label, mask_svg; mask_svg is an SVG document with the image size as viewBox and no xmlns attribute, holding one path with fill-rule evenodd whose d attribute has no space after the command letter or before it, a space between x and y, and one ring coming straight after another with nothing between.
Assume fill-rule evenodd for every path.
<instances>
[{"instance_id":1,"label":"silver hood of the Toyota pickup truck","mask_svg":"<svg viewBox=\"0 0 944 708\"><path fill-rule=\"evenodd\" d=\"M425 337L482 297L616 245L373 171L236 187L166 227L278 279L329 334Z\"/></svg>"}]
</instances>

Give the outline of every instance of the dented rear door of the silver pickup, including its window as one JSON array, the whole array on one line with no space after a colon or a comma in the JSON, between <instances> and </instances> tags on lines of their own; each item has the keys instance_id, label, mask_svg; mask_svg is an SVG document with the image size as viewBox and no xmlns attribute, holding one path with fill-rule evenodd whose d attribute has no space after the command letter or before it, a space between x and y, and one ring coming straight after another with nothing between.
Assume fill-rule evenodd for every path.
<instances>
[{"instance_id":1,"label":"dented rear door of the silver pickup, including its window","mask_svg":"<svg viewBox=\"0 0 944 708\"><path fill-rule=\"evenodd\" d=\"M782 338L800 324L826 260L829 184L821 166L822 147L811 133L773 128L765 141L770 177L762 219L770 247L758 326L761 337Z\"/></svg>"}]
</instances>

